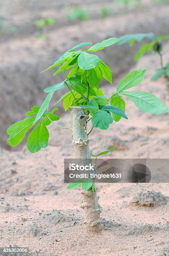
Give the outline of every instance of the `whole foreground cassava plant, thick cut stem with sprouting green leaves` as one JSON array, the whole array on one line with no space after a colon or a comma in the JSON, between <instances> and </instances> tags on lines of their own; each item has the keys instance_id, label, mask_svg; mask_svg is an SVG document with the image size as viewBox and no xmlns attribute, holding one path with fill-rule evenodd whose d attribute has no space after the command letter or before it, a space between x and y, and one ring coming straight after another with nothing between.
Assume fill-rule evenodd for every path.
<instances>
[{"instance_id":1,"label":"whole foreground cassava plant, thick cut stem with sprouting green leaves","mask_svg":"<svg viewBox=\"0 0 169 256\"><path fill-rule=\"evenodd\" d=\"M66 51L55 63L44 71L56 69L54 76L63 73L65 79L59 84L49 86L44 89L48 95L41 107L34 106L26 113L27 118L14 123L7 129L9 135L8 142L11 146L17 146L24 138L25 134L33 128L27 139L28 150L32 153L48 146L49 133L47 126L53 121L59 120L55 115L58 108L49 109L50 100L57 91L67 88L56 105L63 101L65 111L71 113L71 133L75 151L75 157L79 161L83 159L83 164L91 161L91 156L98 157L107 154L114 149L110 147L107 151L93 155L89 147L89 135L94 129L107 130L121 118L128 119L125 114L124 97L133 101L134 104L144 112L152 114L162 114L167 112L166 106L159 98L149 92L136 92L128 90L139 85L143 79L146 69L134 70L126 75L118 84L112 86L112 72L102 59L92 52L103 50L108 46L118 43L118 38L109 38L100 43L94 44L88 50L83 50L84 46L91 43L81 43ZM104 95L99 88L102 79L106 79L112 87L111 95ZM92 128L88 131L88 124ZM54 123L57 125L56 123ZM57 125L58 127L61 127ZM61 127L68 128L68 127ZM92 145L91 145L92 146ZM84 209L84 223L88 231L99 232L101 230L100 213L101 206L98 203L98 195L95 183L91 178L81 179L68 185L68 189L81 187L82 201L81 208Z\"/></svg>"}]
</instances>

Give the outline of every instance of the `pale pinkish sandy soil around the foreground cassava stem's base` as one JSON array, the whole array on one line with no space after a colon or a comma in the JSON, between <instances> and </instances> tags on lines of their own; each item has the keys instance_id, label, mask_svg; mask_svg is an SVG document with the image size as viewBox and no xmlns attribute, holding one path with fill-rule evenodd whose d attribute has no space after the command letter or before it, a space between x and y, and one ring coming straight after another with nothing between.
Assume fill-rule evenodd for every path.
<instances>
[{"instance_id":1,"label":"pale pinkish sandy soil around the foreground cassava stem's base","mask_svg":"<svg viewBox=\"0 0 169 256\"><path fill-rule=\"evenodd\" d=\"M136 89L153 92L169 106L166 81L150 82L156 65L154 56L146 56L133 67L148 69ZM114 88L106 85L103 91L111 95ZM129 120L112 124L106 133L91 133L93 152L113 145L117 149L109 158L167 158L169 115L142 113L128 100L126 105ZM66 113L60 124L67 126L69 121ZM50 146L36 154L26 148L0 151L0 246L28 246L30 255L43 256L168 256L169 203L144 207L132 200L141 191L169 196L169 185L98 184L103 230L101 235L86 236L80 191L66 190L64 184L64 158L73 157L71 132L55 126L50 131Z\"/></svg>"}]
</instances>

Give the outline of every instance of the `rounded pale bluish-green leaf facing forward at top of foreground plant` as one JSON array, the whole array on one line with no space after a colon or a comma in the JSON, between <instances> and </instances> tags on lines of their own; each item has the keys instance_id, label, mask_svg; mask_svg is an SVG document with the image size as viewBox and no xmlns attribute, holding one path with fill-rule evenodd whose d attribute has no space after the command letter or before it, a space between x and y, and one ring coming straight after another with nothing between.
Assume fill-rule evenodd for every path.
<instances>
[{"instance_id":1,"label":"rounded pale bluish-green leaf facing forward at top of foreground plant","mask_svg":"<svg viewBox=\"0 0 169 256\"><path fill-rule=\"evenodd\" d=\"M99 62L100 60L97 55L88 54L85 51L78 56L78 66L80 69L93 69L94 67L98 67Z\"/></svg>"}]
</instances>

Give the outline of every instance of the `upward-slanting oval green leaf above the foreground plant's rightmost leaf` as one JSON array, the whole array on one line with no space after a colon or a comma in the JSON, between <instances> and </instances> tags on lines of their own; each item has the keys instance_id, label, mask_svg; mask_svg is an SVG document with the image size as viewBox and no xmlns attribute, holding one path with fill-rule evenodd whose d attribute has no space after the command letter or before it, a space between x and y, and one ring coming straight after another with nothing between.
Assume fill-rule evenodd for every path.
<instances>
[{"instance_id":1,"label":"upward-slanting oval green leaf above the foreground plant's rightmost leaf","mask_svg":"<svg viewBox=\"0 0 169 256\"><path fill-rule=\"evenodd\" d=\"M134 70L130 72L129 74L122 79L117 87L117 92L121 93L122 91L129 89L131 87L134 87L138 84L141 84L141 82L144 79L144 73L146 72L146 69L140 69L140 70Z\"/></svg>"}]
</instances>

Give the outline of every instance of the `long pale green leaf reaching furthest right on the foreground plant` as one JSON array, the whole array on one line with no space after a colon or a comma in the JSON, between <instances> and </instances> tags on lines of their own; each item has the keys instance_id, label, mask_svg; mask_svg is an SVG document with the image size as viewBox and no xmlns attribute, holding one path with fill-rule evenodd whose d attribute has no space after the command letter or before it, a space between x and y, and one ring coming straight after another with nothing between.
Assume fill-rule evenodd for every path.
<instances>
[{"instance_id":1,"label":"long pale green leaf reaching furthest right on the foreground plant","mask_svg":"<svg viewBox=\"0 0 169 256\"><path fill-rule=\"evenodd\" d=\"M142 111L152 114L163 114L168 112L166 106L159 98L149 92L121 92Z\"/></svg>"}]
</instances>

